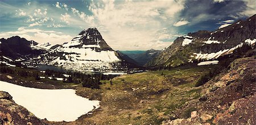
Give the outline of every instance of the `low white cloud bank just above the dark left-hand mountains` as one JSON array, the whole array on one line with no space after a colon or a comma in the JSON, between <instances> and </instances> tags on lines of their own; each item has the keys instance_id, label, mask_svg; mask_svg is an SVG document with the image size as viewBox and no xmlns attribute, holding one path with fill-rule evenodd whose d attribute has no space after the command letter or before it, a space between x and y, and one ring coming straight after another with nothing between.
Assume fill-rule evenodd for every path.
<instances>
[{"instance_id":1,"label":"low white cloud bank just above the dark left-hand mountains","mask_svg":"<svg viewBox=\"0 0 256 125\"><path fill-rule=\"evenodd\" d=\"M39 43L51 42L52 44L63 44L72 40L69 35L64 35L61 32L43 31L41 29L27 29L25 27L18 28L15 32L1 32L0 37L9 38L11 36L24 37L27 40L34 40Z\"/></svg>"}]
</instances>

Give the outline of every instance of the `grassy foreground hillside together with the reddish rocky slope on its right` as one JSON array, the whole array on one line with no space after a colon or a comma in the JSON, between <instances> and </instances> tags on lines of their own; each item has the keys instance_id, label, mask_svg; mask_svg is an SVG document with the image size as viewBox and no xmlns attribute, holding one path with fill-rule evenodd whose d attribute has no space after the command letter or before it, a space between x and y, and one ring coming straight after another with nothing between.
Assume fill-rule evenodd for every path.
<instances>
[{"instance_id":1,"label":"grassy foreground hillside together with the reddish rocky slope on its right","mask_svg":"<svg viewBox=\"0 0 256 125\"><path fill-rule=\"evenodd\" d=\"M81 84L76 84L76 87L71 86L72 84L62 84L63 87L76 89L76 94L79 96L100 100L100 109L82 115L74 122L47 120L41 122L46 124L255 124L253 108L255 105L252 103L255 102L256 89L255 56L236 59L228 67L220 68L225 62L122 75L112 79L113 85L108 80L102 81L105 84L101 84L100 89L83 88ZM212 77L204 85L195 87L200 77L209 71L220 69L222 69L220 74ZM5 74L0 76L1 79L6 77ZM9 78L5 79L15 82L16 76L13 77L13 81ZM44 85L47 84L37 84L37 87ZM59 85L54 87L61 87L61 84ZM3 111L6 107L0 106ZM6 111L4 113L7 114ZM13 119L19 118L18 115L11 116Z\"/></svg>"}]
</instances>

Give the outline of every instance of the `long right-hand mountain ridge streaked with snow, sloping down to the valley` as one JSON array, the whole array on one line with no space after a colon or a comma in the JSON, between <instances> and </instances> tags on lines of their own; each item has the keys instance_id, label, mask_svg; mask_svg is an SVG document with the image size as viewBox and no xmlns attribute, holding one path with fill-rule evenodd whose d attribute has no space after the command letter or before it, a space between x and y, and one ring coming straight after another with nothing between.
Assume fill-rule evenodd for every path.
<instances>
[{"instance_id":1,"label":"long right-hand mountain ridge streaked with snow, sloping down to the valley","mask_svg":"<svg viewBox=\"0 0 256 125\"><path fill-rule=\"evenodd\" d=\"M256 15L238 20L216 31L198 31L178 37L172 45L146 64L147 67L176 67L194 61L213 60L232 54L242 45L255 45Z\"/></svg>"}]
</instances>

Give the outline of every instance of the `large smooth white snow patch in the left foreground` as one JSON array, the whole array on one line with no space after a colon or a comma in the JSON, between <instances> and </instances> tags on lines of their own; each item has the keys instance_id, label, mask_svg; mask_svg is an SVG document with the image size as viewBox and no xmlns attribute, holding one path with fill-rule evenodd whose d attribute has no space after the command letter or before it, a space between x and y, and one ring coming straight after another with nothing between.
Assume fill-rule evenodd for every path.
<instances>
[{"instance_id":1,"label":"large smooth white snow patch in the left foreground","mask_svg":"<svg viewBox=\"0 0 256 125\"><path fill-rule=\"evenodd\" d=\"M0 90L13 96L16 104L26 107L36 117L49 121L71 122L100 107L100 101L75 94L74 89L37 89L0 81Z\"/></svg>"}]
</instances>

